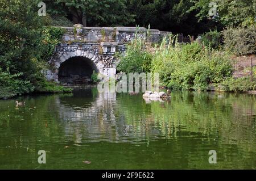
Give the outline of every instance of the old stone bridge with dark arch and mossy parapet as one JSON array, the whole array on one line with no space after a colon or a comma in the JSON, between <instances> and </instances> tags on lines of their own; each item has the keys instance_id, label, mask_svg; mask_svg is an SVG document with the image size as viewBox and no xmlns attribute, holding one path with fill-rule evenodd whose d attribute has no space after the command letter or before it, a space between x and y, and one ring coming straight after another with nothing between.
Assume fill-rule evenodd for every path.
<instances>
[{"instance_id":1,"label":"old stone bridge with dark arch and mossy parapet","mask_svg":"<svg viewBox=\"0 0 256 181\"><path fill-rule=\"evenodd\" d=\"M159 42L170 32L135 27L61 27L65 34L50 60L51 70L45 72L48 81L86 83L93 71L107 77L116 73L116 52L123 53L126 45L138 36Z\"/></svg>"}]
</instances>

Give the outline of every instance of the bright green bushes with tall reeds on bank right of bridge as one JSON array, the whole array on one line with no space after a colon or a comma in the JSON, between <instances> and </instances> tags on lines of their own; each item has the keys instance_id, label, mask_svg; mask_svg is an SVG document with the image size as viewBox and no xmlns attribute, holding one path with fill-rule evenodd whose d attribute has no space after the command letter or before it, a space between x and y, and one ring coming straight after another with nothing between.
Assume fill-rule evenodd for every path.
<instances>
[{"instance_id":1,"label":"bright green bushes with tall reeds on bank right of bridge","mask_svg":"<svg viewBox=\"0 0 256 181\"><path fill-rule=\"evenodd\" d=\"M159 73L162 86L182 90L207 90L232 76L228 54L203 48L199 43L166 45L166 40L155 54L142 49L140 40L134 40L121 57L118 70Z\"/></svg>"}]
</instances>

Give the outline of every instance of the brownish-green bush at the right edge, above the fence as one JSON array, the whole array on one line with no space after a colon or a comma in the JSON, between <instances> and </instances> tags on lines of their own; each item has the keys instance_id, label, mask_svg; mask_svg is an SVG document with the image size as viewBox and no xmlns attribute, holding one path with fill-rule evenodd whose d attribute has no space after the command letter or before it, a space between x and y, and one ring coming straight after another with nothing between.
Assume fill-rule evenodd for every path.
<instances>
[{"instance_id":1,"label":"brownish-green bush at the right edge, above the fence","mask_svg":"<svg viewBox=\"0 0 256 181\"><path fill-rule=\"evenodd\" d=\"M226 50L237 56L256 53L256 28L228 28L224 32Z\"/></svg>"}]
</instances>

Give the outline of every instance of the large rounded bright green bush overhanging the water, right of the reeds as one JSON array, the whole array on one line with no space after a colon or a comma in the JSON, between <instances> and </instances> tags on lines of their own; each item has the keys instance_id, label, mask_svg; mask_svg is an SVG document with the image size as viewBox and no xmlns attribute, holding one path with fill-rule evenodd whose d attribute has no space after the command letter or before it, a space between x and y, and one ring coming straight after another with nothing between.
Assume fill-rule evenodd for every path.
<instances>
[{"instance_id":1,"label":"large rounded bright green bush overhanging the water, right of the reeds","mask_svg":"<svg viewBox=\"0 0 256 181\"><path fill-rule=\"evenodd\" d=\"M207 90L209 84L230 77L232 65L227 54L192 43L158 52L152 71L159 73L160 83L171 89Z\"/></svg>"}]
</instances>

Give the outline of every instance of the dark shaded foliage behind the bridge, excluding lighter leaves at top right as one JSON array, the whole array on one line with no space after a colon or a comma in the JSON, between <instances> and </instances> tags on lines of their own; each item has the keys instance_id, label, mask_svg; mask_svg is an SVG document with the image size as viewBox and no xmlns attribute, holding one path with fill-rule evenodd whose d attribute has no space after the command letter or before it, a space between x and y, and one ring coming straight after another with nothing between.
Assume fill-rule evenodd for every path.
<instances>
[{"instance_id":1,"label":"dark shaded foliage behind the bridge, excluding lighter leaves at top right","mask_svg":"<svg viewBox=\"0 0 256 181\"><path fill-rule=\"evenodd\" d=\"M191 0L57 0L44 1L51 15L68 17L85 26L135 26L197 35L217 24L205 18L199 22Z\"/></svg>"}]
</instances>

